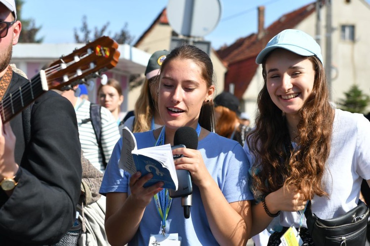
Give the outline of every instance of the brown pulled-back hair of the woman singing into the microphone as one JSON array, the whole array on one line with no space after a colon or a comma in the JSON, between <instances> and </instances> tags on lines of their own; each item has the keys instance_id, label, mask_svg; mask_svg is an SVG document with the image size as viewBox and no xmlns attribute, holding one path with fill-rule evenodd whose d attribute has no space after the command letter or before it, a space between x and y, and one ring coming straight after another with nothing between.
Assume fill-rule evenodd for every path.
<instances>
[{"instance_id":1,"label":"brown pulled-back hair of the woman singing into the microphone","mask_svg":"<svg viewBox=\"0 0 370 246\"><path fill-rule=\"evenodd\" d=\"M161 74L167 63L174 59L191 60L195 62L201 68L201 76L206 81L207 88L213 85L213 64L207 53L193 45L179 46L172 50L171 53L167 55L166 60L163 61L160 68ZM209 131L214 130L215 116L213 100L203 103L200 109L198 122L203 128Z\"/></svg>"}]
</instances>

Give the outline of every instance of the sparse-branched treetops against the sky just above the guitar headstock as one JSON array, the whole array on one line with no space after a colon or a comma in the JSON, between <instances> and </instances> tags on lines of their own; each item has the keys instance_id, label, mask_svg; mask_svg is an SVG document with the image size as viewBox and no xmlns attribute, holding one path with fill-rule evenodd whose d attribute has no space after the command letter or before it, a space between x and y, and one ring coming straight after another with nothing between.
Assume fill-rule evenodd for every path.
<instances>
[{"instance_id":1,"label":"sparse-branched treetops against the sky just above the guitar headstock","mask_svg":"<svg viewBox=\"0 0 370 246\"><path fill-rule=\"evenodd\" d=\"M103 35L111 36L119 44L130 44L134 37L130 35L129 31L127 30L127 23L123 26L123 28L111 35L111 31L108 31L109 22L103 25L102 28L95 27L94 34L91 35L92 30L89 29L87 25L87 17L82 17L82 26L79 29L74 29L74 40L77 43L86 43L88 41L95 40Z\"/></svg>"}]
</instances>

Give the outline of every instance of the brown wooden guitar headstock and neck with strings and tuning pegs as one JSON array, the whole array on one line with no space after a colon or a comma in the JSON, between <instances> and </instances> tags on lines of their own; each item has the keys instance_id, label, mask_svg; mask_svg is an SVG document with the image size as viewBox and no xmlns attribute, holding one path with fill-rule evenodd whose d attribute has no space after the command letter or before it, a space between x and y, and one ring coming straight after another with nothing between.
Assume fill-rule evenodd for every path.
<instances>
[{"instance_id":1,"label":"brown wooden guitar headstock and neck with strings and tuning pegs","mask_svg":"<svg viewBox=\"0 0 370 246\"><path fill-rule=\"evenodd\" d=\"M2 98L0 117L6 123L48 90L62 90L88 79L97 77L102 71L115 67L119 59L118 44L107 36L89 42L80 49L59 60L34 76L17 90Z\"/></svg>"}]
</instances>

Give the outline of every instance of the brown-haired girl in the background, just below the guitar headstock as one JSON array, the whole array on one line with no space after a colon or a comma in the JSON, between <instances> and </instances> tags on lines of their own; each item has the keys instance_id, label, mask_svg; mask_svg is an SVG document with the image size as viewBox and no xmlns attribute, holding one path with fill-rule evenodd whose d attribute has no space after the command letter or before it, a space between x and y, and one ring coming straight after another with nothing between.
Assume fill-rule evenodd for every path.
<instances>
[{"instance_id":1,"label":"brown-haired girl in the background, just below the guitar headstock","mask_svg":"<svg viewBox=\"0 0 370 246\"><path fill-rule=\"evenodd\" d=\"M122 88L116 79L109 79L107 84L98 88L99 104L111 111L117 125L123 120L126 112L121 112L123 102Z\"/></svg>"}]
</instances>

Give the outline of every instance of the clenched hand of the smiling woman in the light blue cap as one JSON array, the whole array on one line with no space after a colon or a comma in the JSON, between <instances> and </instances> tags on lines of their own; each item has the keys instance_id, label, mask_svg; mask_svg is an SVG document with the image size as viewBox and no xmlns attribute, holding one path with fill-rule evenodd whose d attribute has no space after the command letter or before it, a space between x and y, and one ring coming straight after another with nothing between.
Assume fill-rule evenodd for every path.
<instances>
[{"instance_id":1,"label":"clenched hand of the smiling woman in the light blue cap","mask_svg":"<svg viewBox=\"0 0 370 246\"><path fill-rule=\"evenodd\" d=\"M307 199L295 186L283 186L271 192L265 197L265 203L271 214L278 211L301 211L304 209Z\"/></svg>"}]
</instances>

